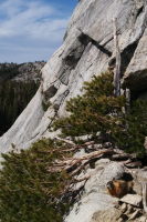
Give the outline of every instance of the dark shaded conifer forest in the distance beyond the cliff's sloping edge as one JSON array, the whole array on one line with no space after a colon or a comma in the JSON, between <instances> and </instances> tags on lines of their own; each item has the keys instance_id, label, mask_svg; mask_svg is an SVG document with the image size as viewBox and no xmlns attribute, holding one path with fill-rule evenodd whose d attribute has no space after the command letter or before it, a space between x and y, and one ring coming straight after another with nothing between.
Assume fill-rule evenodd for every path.
<instances>
[{"instance_id":1,"label":"dark shaded conifer forest in the distance beyond the cliff's sloping edge","mask_svg":"<svg viewBox=\"0 0 147 222\"><path fill-rule=\"evenodd\" d=\"M0 82L0 135L20 115L39 88L39 83L2 81Z\"/></svg>"}]
</instances>

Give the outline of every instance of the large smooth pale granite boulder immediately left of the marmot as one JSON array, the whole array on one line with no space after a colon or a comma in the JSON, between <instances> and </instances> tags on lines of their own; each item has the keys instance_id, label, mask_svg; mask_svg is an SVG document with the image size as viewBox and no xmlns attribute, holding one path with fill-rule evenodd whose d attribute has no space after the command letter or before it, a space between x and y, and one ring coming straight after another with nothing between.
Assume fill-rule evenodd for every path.
<instances>
[{"instance_id":1,"label":"large smooth pale granite boulder immediately left of the marmot","mask_svg":"<svg viewBox=\"0 0 147 222\"><path fill-rule=\"evenodd\" d=\"M86 182L81 200L74 204L64 222L90 222L97 211L108 210L117 203L106 190L106 183L114 178L123 176L125 169L122 164L109 162L107 159L97 161L95 169L88 169L91 179Z\"/></svg>"}]
</instances>

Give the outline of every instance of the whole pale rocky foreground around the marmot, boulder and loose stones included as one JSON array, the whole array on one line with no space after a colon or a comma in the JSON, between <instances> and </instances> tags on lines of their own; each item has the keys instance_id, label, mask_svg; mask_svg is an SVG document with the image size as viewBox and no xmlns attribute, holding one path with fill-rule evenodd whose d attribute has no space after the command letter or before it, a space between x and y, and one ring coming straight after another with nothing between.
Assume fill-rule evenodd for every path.
<instances>
[{"instance_id":1,"label":"whole pale rocky foreground around the marmot, boulder and loose stones included","mask_svg":"<svg viewBox=\"0 0 147 222\"><path fill-rule=\"evenodd\" d=\"M108 159L96 161L95 169L86 170L85 174L91 178L64 222L141 222L143 216L146 218L143 211L143 194L138 194L135 188L137 184L141 188L146 171L134 169L133 172L129 174L134 182L133 192L117 199L108 194L106 184L114 179L122 180L128 173L128 169L123 163L112 162ZM141 174L143 178L139 178ZM78 188L80 184L76 186Z\"/></svg>"}]
</instances>

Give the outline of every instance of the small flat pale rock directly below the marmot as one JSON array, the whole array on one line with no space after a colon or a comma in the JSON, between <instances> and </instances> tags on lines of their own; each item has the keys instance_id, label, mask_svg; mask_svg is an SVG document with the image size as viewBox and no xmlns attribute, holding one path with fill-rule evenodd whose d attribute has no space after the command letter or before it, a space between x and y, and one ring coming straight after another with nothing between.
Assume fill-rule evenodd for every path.
<instances>
[{"instance_id":1,"label":"small flat pale rock directly below the marmot","mask_svg":"<svg viewBox=\"0 0 147 222\"><path fill-rule=\"evenodd\" d=\"M138 194L127 194L127 195L123 196L120 199L120 201L124 203L135 205L135 206L140 206L143 199Z\"/></svg>"}]
</instances>

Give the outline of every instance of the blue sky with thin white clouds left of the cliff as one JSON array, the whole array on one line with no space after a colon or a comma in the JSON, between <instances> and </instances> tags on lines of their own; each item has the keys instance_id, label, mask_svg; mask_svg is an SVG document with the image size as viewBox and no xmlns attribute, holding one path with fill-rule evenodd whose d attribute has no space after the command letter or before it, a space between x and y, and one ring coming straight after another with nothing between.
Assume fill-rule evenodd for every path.
<instances>
[{"instance_id":1,"label":"blue sky with thin white clouds left of the cliff","mask_svg":"<svg viewBox=\"0 0 147 222\"><path fill-rule=\"evenodd\" d=\"M48 60L77 0L0 0L0 62Z\"/></svg>"}]
</instances>

